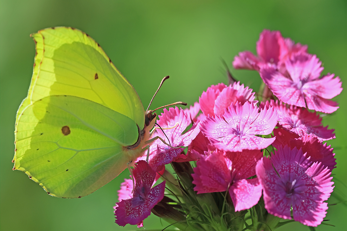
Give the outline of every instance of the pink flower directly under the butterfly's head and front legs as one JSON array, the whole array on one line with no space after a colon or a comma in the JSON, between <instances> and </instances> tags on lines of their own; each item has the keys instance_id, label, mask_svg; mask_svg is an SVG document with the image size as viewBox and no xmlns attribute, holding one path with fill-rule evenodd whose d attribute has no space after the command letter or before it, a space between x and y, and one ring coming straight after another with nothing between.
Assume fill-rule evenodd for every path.
<instances>
[{"instance_id":1,"label":"pink flower directly under the butterfly's head and front legs","mask_svg":"<svg viewBox=\"0 0 347 231\"><path fill-rule=\"evenodd\" d=\"M200 132L198 122L194 123L189 131L182 134L186 128L191 124L191 115L185 113L184 110L179 108L170 108L169 110L164 109L164 113L159 116L157 123L164 130L165 134L157 128L153 136L160 136L167 143L170 143L171 146L188 146L192 140ZM176 160L179 154L183 151L183 148L171 148L170 146L164 144L161 140L157 139L150 146L150 156L149 156L149 165L154 171L160 171L164 165L171 163ZM145 159L146 156L141 157Z\"/></svg>"}]
</instances>

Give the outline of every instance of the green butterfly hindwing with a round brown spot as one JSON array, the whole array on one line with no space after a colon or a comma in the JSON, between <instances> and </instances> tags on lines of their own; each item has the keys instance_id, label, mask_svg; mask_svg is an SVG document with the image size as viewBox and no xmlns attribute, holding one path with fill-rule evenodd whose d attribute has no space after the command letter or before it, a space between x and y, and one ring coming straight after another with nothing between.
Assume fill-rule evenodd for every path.
<instances>
[{"instance_id":1,"label":"green butterfly hindwing with a round brown spot","mask_svg":"<svg viewBox=\"0 0 347 231\"><path fill-rule=\"evenodd\" d=\"M18 119L15 169L58 197L88 195L126 168L124 146L138 138L136 123L74 96L49 96Z\"/></svg>"}]
</instances>

